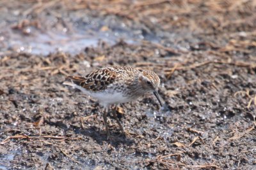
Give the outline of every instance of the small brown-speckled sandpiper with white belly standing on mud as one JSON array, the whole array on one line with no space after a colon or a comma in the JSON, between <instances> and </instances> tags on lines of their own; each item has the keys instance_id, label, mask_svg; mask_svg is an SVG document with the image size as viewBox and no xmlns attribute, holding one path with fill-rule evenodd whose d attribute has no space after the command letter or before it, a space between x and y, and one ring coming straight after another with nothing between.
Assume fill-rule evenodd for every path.
<instances>
[{"instance_id":1,"label":"small brown-speckled sandpiper with white belly standing on mud","mask_svg":"<svg viewBox=\"0 0 256 170\"><path fill-rule=\"evenodd\" d=\"M134 101L143 94L152 92L162 106L158 95L159 76L149 70L127 66L103 67L86 76L67 76L63 84L76 87L88 96L98 99L104 106L103 119L108 136L110 133L106 114L111 104L115 105L113 116L123 133L124 128L116 117L118 104Z\"/></svg>"}]
</instances>

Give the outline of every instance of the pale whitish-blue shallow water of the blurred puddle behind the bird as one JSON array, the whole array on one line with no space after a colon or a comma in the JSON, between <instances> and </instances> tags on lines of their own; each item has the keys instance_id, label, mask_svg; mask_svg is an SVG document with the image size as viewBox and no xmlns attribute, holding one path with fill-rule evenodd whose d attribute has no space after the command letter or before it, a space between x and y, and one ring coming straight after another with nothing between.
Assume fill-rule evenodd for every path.
<instances>
[{"instance_id":1,"label":"pale whitish-blue shallow water of the blurred puddle behind the bird","mask_svg":"<svg viewBox=\"0 0 256 170\"><path fill-rule=\"evenodd\" d=\"M47 55L56 51L79 53L86 46L97 46L99 37L83 36L79 34L38 34L36 36L22 36L8 39L5 50ZM105 39L106 40L106 39Z\"/></svg>"}]
</instances>

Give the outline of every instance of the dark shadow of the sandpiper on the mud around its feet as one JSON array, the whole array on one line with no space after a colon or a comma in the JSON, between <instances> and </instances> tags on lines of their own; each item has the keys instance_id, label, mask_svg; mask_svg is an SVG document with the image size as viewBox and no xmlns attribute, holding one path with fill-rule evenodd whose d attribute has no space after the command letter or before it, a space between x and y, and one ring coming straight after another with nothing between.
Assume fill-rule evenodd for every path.
<instances>
[{"instance_id":1,"label":"dark shadow of the sandpiper on the mud around its feet","mask_svg":"<svg viewBox=\"0 0 256 170\"><path fill-rule=\"evenodd\" d=\"M89 136L94 139L99 145L102 145L104 141L110 143L112 146L117 147L122 143L122 145L131 146L134 143L132 137L127 137L125 134L120 132L111 132L111 136L108 138L106 132L100 130L98 127L91 126L86 129L75 129L76 134L83 134L84 136Z\"/></svg>"}]
</instances>

